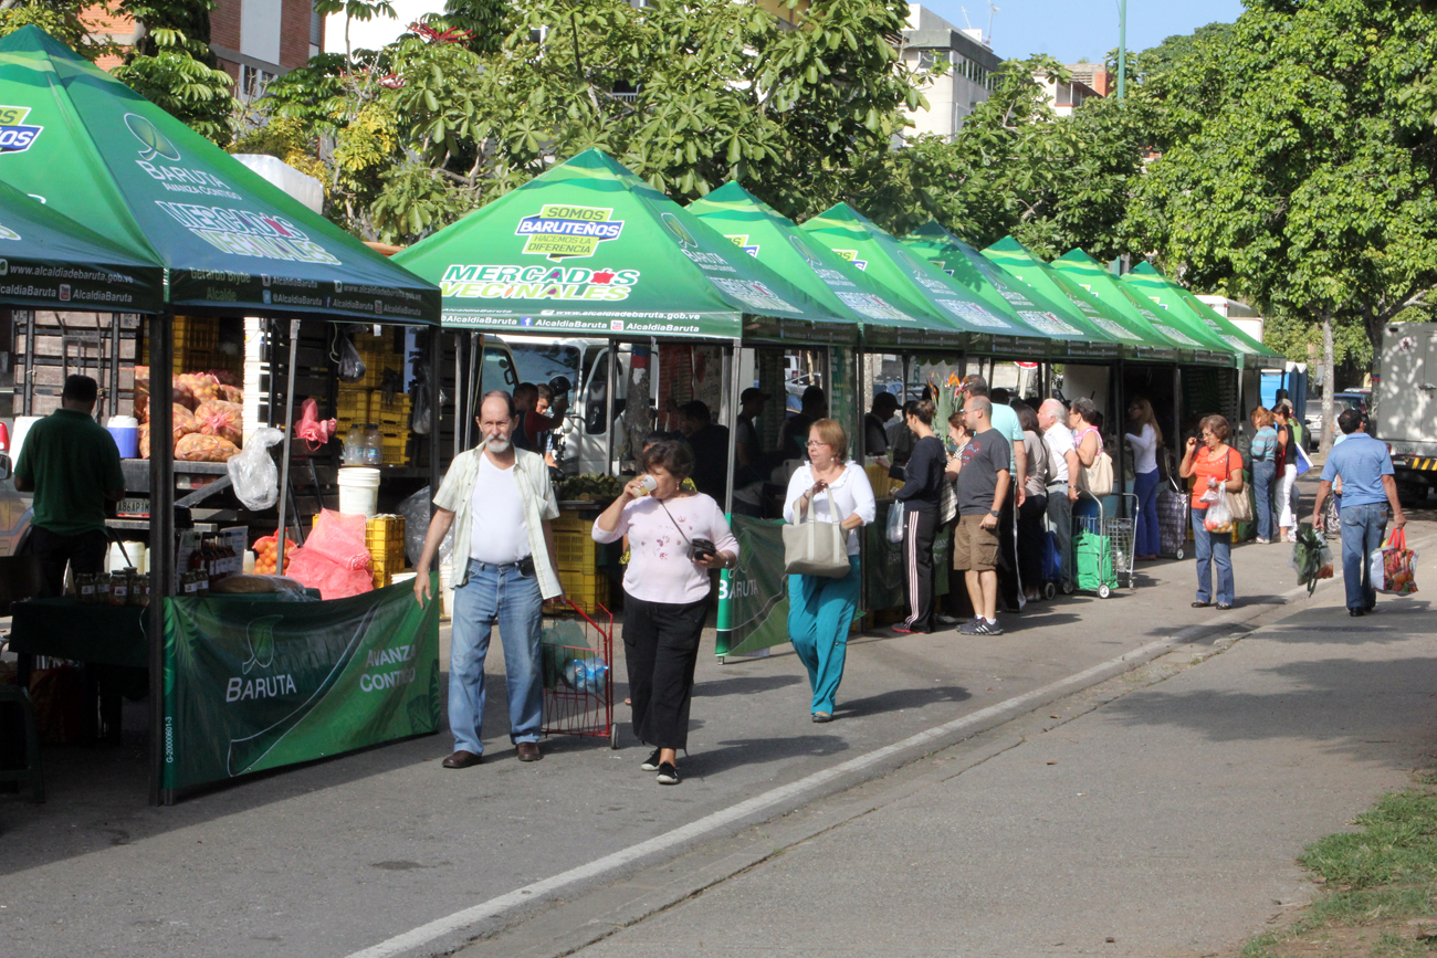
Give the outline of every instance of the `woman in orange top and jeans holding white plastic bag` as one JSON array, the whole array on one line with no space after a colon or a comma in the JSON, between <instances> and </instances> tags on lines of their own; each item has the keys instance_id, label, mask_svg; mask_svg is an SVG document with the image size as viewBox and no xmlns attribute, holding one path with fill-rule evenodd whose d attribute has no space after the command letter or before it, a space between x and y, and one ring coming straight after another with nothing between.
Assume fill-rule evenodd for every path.
<instances>
[{"instance_id":1,"label":"woman in orange top and jeans holding white plastic bag","mask_svg":"<svg viewBox=\"0 0 1437 958\"><path fill-rule=\"evenodd\" d=\"M1243 488L1242 452L1227 445L1232 427L1220 415L1204 417L1201 422L1203 445L1196 437L1188 437L1187 450L1178 474L1183 478L1197 478L1193 488L1193 544L1197 553L1197 599L1194 609L1213 605L1211 567L1217 566L1217 608L1233 608L1236 586L1233 583L1233 518L1227 507L1227 494ZM1214 510L1209 516L1209 510ZM1217 520L1217 513L1226 521Z\"/></svg>"}]
</instances>

